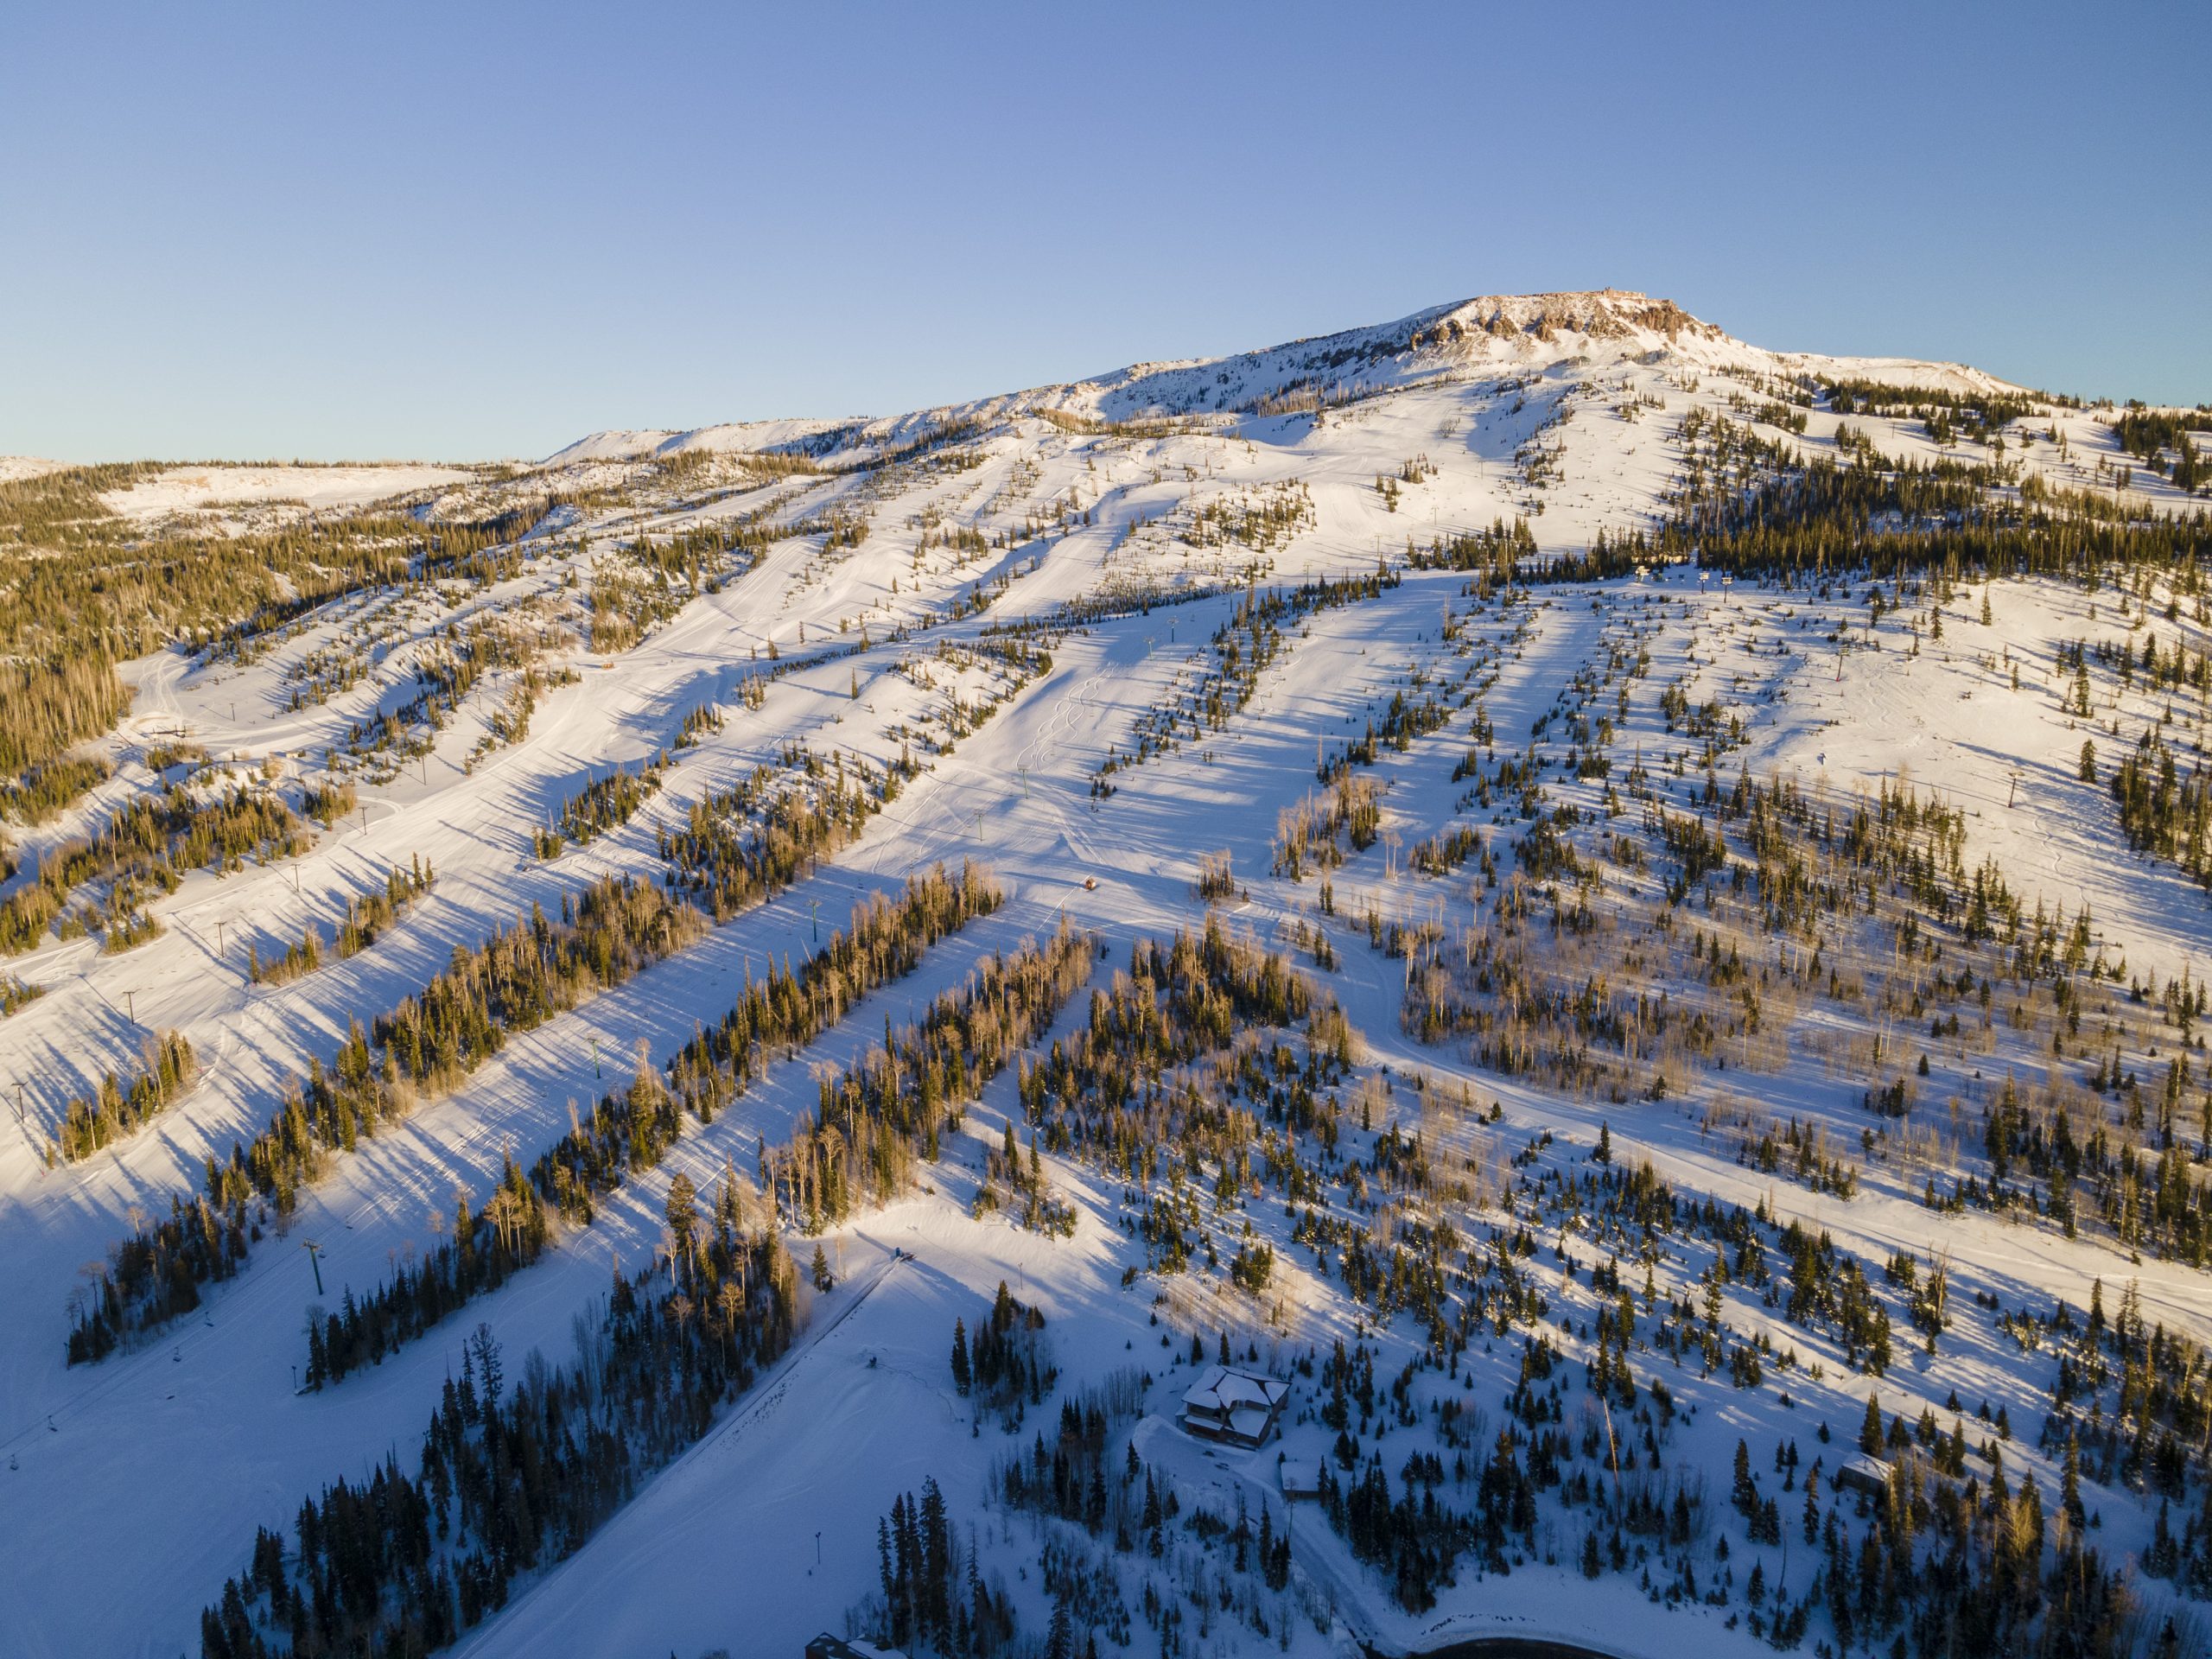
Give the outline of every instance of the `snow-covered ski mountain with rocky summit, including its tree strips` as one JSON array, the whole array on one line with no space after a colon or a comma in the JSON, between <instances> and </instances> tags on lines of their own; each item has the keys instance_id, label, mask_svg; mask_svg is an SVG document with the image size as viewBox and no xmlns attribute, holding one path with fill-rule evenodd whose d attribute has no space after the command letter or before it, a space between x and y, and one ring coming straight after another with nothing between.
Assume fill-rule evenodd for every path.
<instances>
[{"instance_id":1,"label":"snow-covered ski mountain with rocky summit, including its tree strips","mask_svg":"<svg viewBox=\"0 0 2212 1659\"><path fill-rule=\"evenodd\" d=\"M469 533L9 823L0 1648L2201 1652L2117 414L1604 292L133 482Z\"/></svg>"}]
</instances>

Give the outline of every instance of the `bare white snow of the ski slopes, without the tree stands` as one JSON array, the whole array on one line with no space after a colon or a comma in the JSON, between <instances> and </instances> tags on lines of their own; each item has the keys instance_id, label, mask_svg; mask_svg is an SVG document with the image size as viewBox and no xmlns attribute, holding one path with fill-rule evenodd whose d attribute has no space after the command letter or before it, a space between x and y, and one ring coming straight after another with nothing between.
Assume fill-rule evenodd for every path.
<instances>
[{"instance_id":1,"label":"bare white snow of the ski slopes, without the tree stands","mask_svg":"<svg viewBox=\"0 0 2212 1659\"><path fill-rule=\"evenodd\" d=\"M133 664L133 710L97 745L115 774L58 818L9 830L20 869L0 894L29 885L33 858L97 834L133 799L157 796L179 774L155 774L153 750L177 741L204 750L188 768L210 792L268 787L294 807L307 785L347 783L358 794L349 814L314 827L307 852L248 858L223 874L197 869L153 898L164 931L144 945L106 951L100 929L46 933L4 964L44 995L0 1020L0 1079L18 1106L0 1135L0 1250L11 1263L0 1276L0 1329L9 1332L0 1343L9 1458L0 1540L13 1566L0 1577L0 1646L20 1655L190 1650L199 1610L241 1571L257 1526L288 1526L303 1495L363 1475L389 1449L411 1462L478 1321L498 1332L515 1371L531 1349L564 1363L571 1323L604 1294L608 1265L655 1261L679 1170L701 1190L726 1166L750 1170L763 1137L790 1135L816 1106L818 1077L867 1055L887 1020L916 1015L982 956L1044 936L1062 918L1099 936L1104 984L1137 938L1203 922L1197 880L1210 854L1228 854L1234 872L1234 891L1219 902L1230 925L1290 951L1358 1029L1365 1057L1345 1099L1371 1091L1389 1102L1389 1121L1422 1126L1440 1159L1504 1170L1511 1181L1511 1157L1548 1130L1555 1144L1522 1168L1586 1172L1604 1126L1621 1159L1648 1157L1681 1194L1745 1210L1767 1203L1776 1217L1825 1228L1876 1276L1898 1252L1944 1259L1958 1336L1918 1352L1902 1298L1891 1296L1900 1360L1880 1380L1885 1400L1896 1396L1887 1409L1924 1405L1949 1429L1953 1391L1969 1409L1980 1400L2006 1407L2020 1431L2008 1467L2033 1471L2048 1498L2055 1462L2028 1425L2051 1409L2053 1352L2024 1356L1973 1298L2006 1310L2064 1298L2079 1312L2095 1281L2115 1307L2119 1285L2135 1281L2148 1318L2212 1340L2212 1281L2185 1261L2130 1261L2095 1225L2064 1237L2039 1217L1922 1201L1924 1181L1982 1168L1982 1115L2002 1075L2017 1073L2024 1086L2046 1073L2079 1084L2088 1051L2053 1057L2053 1029L2035 1024L2051 1015L1993 1020L1986 1040L1969 1031L1922 1042L1924 1013L1807 995L1792 1004L1796 1024L1778 1057L1692 1068L1677 1093L1624 1104L1500 1075L1467 1037L1420 1042L1402 1020L1411 967L1374 945L1385 922L1433 922L1455 938L1495 916L1498 885L1478 883L1475 865L1449 876L1409 867L1411 847L1453 830L1482 836L1511 867L1526 827L1511 792L1475 803L1475 783L1455 774L1478 748L1486 750L1478 779L1495 774L1502 757L1542 750L1546 801L1588 814L1577 834L1590 856L1613 834L1641 834L1635 805L1604 816L1604 792L1626 792L1637 763L1655 774L1655 801L1697 812L1705 783L1697 743L1659 701L1661 688L1681 686L1690 703L1714 699L1741 721L1741 739L1717 765L1721 787L1739 772L1790 779L1849 810L1858 790L1905 779L1964 814L1966 865L1993 858L2031 911L2037 902L2068 916L2086 907L2095 949L2126 971L2088 993L2095 1002L2081 1029L2128 1033L2126 1060L2157 1091L2172 1040L2157 1051L2159 1033L2141 1024L2154 1011L2128 1000L2128 978L2201 971L2212 960L2212 909L2172 858L2130 849L2104 779L2146 726L2161 726L2168 703L2172 741L2201 754L2203 697L2154 690L2132 668L2124 681L2099 664L2095 710L2081 717L2068 703L2066 653L2119 635L2139 655L2146 633L2161 653L2174 639L2190 653L2212 648L2212 626L2179 588L2168 593L2161 580L2152 595L2128 588L2121 597L2110 586L1962 577L1947 602L1929 584L1900 586L1869 619L1865 588L1840 582L1721 591L1677 566L1652 580L1478 599L1464 573L1407 568L1409 549L1493 524L1524 522L1542 555L1582 553L1599 533L1655 531L1683 487L1692 411L1741 422L1798 456L1836 456L1838 427L1849 425L1893 460L1984 458L1984 445L1942 447L1913 418L1838 418L1807 389L1823 376L2028 396L2037 414L2008 431L2004 451L2022 478L2137 511L2185 509L2141 465L2119 487L2117 469L2132 462L2106 409L2037 400L1960 365L1767 352L1670 301L1619 290L1471 299L1261 352L1133 365L878 420L604 431L511 478L434 467L186 469L124 491L115 511L150 524L177 515L254 524L257 502L343 511L398 500L434 520L538 509L549 493L566 504L538 518L495 568L349 595L239 650L175 648ZM1803 398L1790 405L1805 411L1803 431L1770 420L1785 387ZM706 564L686 566L688 557ZM1400 571L1396 586L1287 624L1248 701L1219 719L1199 719L1203 703L1183 701L1203 695L1219 666L1210 641L1243 595L1385 564ZM1938 611L1940 639L1931 633ZM615 630L611 617L639 626ZM993 628L1022 622L1051 624L1040 635L1048 668L1024 675L991 655ZM522 644L507 657L487 653L489 666L429 723L422 688L453 641L478 628L511 630ZM1630 675L1624 664L1637 650L1648 659ZM1597 684L1601 701L1533 730L1562 699ZM1312 878L1270 874L1283 814L1321 790L1316 757L1387 719L1396 695L1431 688L1442 688L1442 721L1405 748L1380 745L1360 770L1380 790L1383 836L1334 869L1334 905L1323 907ZM1573 743L1577 754L1601 752L1610 774L1571 776L1568 721L1613 714L1615 695L1626 701L1608 734ZM515 708L524 710L520 732ZM1170 748L1108 772L1108 759L1128 759L1139 732L1157 732L1170 708L1183 710L1166 721ZM712 728L690 728L697 741L679 748L686 719L701 710L714 714ZM1495 728L1489 743L1475 739L1478 714ZM385 732L405 743L383 743ZM2099 781L2079 776L2090 734L2104 757ZM918 774L852 845L787 891L515 1035L403 1124L334 1157L301 1214L283 1228L272 1221L243 1270L208 1285L195 1314L97 1365L64 1365L73 1296L115 1241L144 1217L161 1217L173 1192L195 1190L208 1159L248 1141L310 1064L330 1062L352 1020L394 1009L456 949L476 947L531 905L557 914L604 874L659 883L664 832L679 832L695 807L706 812L717 792L794 741L876 772L905 754ZM670 768L628 823L538 856L533 832L562 803L664 750ZM1668 770L1677 752L1690 761L1679 774ZM250 982L248 945L263 960L281 956L310 922L327 942L347 900L411 858L429 860L438 883L385 938L290 984ZM367 1294L396 1261L427 1250L456 1188L480 1194L509 1152L526 1166L557 1146L571 1106L626 1077L639 1046L653 1064L666 1062L750 973L805 960L860 898L962 858L995 872L1006 891L998 916L938 945L911 980L860 998L730 1110L692 1126L666 1164L637 1172L591 1225L564 1230L542 1263L343 1385L296 1391L307 1310L332 1307L347 1290ZM1646 867L1608 863L1599 883L1608 918L1617 911L1608 927L1619 931L1604 936L1615 956L1646 938L1637 929L1657 909L1652 869L1663 858L1650 858ZM1683 916L1686 927L1714 936L1741 922L1717 920L1710 900L1705 909L1690 902ZM1298 945L1316 931L1334 940L1334 969ZM1836 929L1827 947L1840 945ZM1597 960L1595 945L1579 956L1551 949L1562 962ZM1679 993L1699 995L1688 987L1701 969L1688 967L1679 938L1672 949L1666 971L1681 975ZM1776 960L1776 942L1750 931L1745 951ZM1776 991L1776 1006L1785 1000ZM1086 1013L1077 998L1055 1033L1073 1035ZM197 1084L142 1133L84 1161L51 1164L66 1102L111 1071L133 1071L157 1029L190 1040ZM1902 1044L1887 1051L1880 1077L1867 1060L1876 1031ZM1869 1119L1865 1093L1909 1064L1898 1053L1920 1051L1931 1062L1916 1084L1922 1106L1891 1139ZM1462 1088L1480 1106L1495 1099L1495 1121L1436 1104ZM1126 1183L1073 1155L1044 1159L1053 1188L1075 1206L1073 1237L1024 1230L1004 1212L973 1214L984 1155L1020 1117L1013 1075L1002 1075L927 1172L929 1190L830 1230L825 1248L845 1283L810 1296L810 1323L781 1369L730 1402L582 1551L524 1575L518 1599L462 1650L792 1652L814 1630L841 1630L874 1590L876 1517L925 1478L942 1484L962 1526L978 1528L1022 1628L1042 1632L1048 1599L1033 1571L1037 1535L1026 1517L987 1502L993 1460L1026 1440L978 1422L945 1365L951 1321L964 1314L973 1325L1000 1281L1046 1312L1068 1389L1121 1365L1152 1374L1144 1413L1117 1436L1139 1447L1192 1513L1232 1509L1239 1495L1281 1504L1272 1449L1214 1455L1172 1427L1192 1332L1208 1340L1217 1329L1250 1332L1281 1371L1338 1338L1367 1340L1385 1354L1376 1365L1385 1387L1420 1352L1411 1321L1378 1325L1345 1292L1340 1270L1314 1270L1314 1250L1292 1239L1298 1206L1279 1194L1252 1199L1239 1219L1283 1261L1274 1310L1203 1263L1157 1272L1133 1232L1141 1206ZM1863 1166L1856 1194L1747 1164L1732 1124L1752 1117L1820 1126ZM1374 1155L1385 1126L1347 1128L1345 1152ZM1882 1128L1880 1146L1874 1128ZM1502 1225L1511 1214L1498 1208L1504 1190L1493 1181L1486 1197L1469 1197L1462 1232ZM1535 1197L1522 1203L1522 1217L1537 1217ZM1369 1225L1365 1212L1345 1214ZM1228 1221L1219 1237L1230 1250ZM1544 1234L1535 1272L1573 1314L1566 1327L1553 1321L1551 1334L1571 1360L1584 1360L1608 1298L1588 1283L1559 1283L1553 1237ZM301 1248L307 1241L314 1263ZM801 1261L812 1243L790 1230ZM1582 1254L1588 1281L1597 1243ZM1663 1294L1683 1298L1701 1294L1708 1267L1710 1250L1686 1241L1668 1243L1655 1263ZM1721 1374L1677 1376L1657 1352L1632 1356L1639 1374L1663 1367L1683 1402L1670 1467L1701 1471L1714 1511L1725 1509L1739 1436L1761 1469L1778 1438L1801 1440L1807 1458L1827 1449L1834 1467L1869 1387L1836 1345L1787 1325L1752 1287L1728 1294L1743 1332L1765 1332L1774 1352L1787 1347L1805 1363L1783 1369L1774 1360L1765 1387L1736 1389ZM1467 1356L1467 1394L1480 1394L1493 1422L1504 1416L1524 1336ZM1579 1363L1564 1369L1579 1378ZM1442 1398L1444 1378L1422 1376L1420 1387ZM1294 1389L1285 1447L1327 1455L1332 1436L1314 1416L1321 1391L1303 1371ZM1044 1402L1029 1429L1053 1416ZM1836 1431L1836 1447L1814 1444L1820 1422ZM1398 1447L1418 1451L1431 1444L1427 1433L1391 1429L1380 1449L1394 1480ZM2124 1478L2090 1484L2104 1546L2115 1559L2139 1557L2157 1504ZM2201 1498L2201 1486L2188 1491L2190 1502ZM1794 1504L1792 1495L1785 1533L1796 1528ZM2179 1528L2181 1504L2174 1513ZM1692 1599L1661 1615L1657 1593L1646 1597L1632 1573L1586 1584L1571 1559L1575 1524L1546 1511L1557 1559L1531 1548L1509 1577L1467 1573L1433 1610L1411 1615L1303 1506L1292 1586L1281 1593L1294 1610L1283 1644L1409 1650L1509 1630L1630 1655L1765 1648L1736 1621L1741 1590L1725 1606ZM1723 1566L1712 1540L1730 1526L1736 1555ZM1717 1515L1688 1555L1701 1582L1730 1573L1741 1584L1750 1548L1741 1524ZM1770 1551L1761 1557L1767 1582L1805 1595L1816 1564L1807 1555L1816 1553L1801 1548L1790 1562ZM131 1571L108 1573L97 1559ZM2146 1579L2139 1590L2146 1608L2168 1606L2163 1582ZM1274 1610L1263 1606L1267 1617ZM1139 1628L1137 1641L1157 1637ZM1217 1624L1208 1641L1194 1650L1276 1646L1237 1619Z\"/></svg>"}]
</instances>

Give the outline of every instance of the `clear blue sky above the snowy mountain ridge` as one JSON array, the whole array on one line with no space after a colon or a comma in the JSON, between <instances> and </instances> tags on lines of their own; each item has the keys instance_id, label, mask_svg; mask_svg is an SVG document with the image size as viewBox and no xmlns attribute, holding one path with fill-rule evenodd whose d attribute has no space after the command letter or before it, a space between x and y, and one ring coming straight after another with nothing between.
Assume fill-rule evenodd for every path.
<instances>
[{"instance_id":1,"label":"clear blue sky above the snowy mountain ridge","mask_svg":"<svg viewBox=\"0 0 2212 1659\"><path fill-rule=\"evenodd\" d=\"M15 7L0 453L538 456L1482 292L2212 398L2212 7Z\"/></svg>"}]
</instances>

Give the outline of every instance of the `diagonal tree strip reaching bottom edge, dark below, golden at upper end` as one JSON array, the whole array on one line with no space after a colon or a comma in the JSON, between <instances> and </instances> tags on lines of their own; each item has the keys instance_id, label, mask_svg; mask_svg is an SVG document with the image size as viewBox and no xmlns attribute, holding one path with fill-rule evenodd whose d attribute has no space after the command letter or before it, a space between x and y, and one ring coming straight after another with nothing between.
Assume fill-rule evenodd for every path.
<instances>
[{"instance_id":1,"label":"diagonal tree strip reaching bottom edge, dark below, golden at upper end","mask_svg":"<svg viewBox=\"0 0 2212 1659\"><path fill-rule=\"evenodd\" d=\"M911 1159L933 1139L1088 980L1091 958L1091 936L1066 927L1044 947L993 956L920 1026L843 1084L825 1082L827 1126L801 1119L772 1166L763 1148L774 1214L821 1223L865 1186L896 1190L905 1161L885 1152L896 1144ZM832 1148L876 1179L807 1177L838 1168ZM248 1566L201 1613L201 1659L449 1646L504 1604L520 1573L573 1555L644 1475L699 1440L787 1349L799 1274L774 1225L745 1230L732 1177L706 1212L686 1212L675 1183L670 1199L666 1283L659 1263L617 1272L575 1363L531 1367L513 1396L480 1325L425 1433L420 1473L387 1455L361 1484L325 1486L301 1506L290 1571L283 1535L259 1528Z\"/></svg>"}]
</instances>

